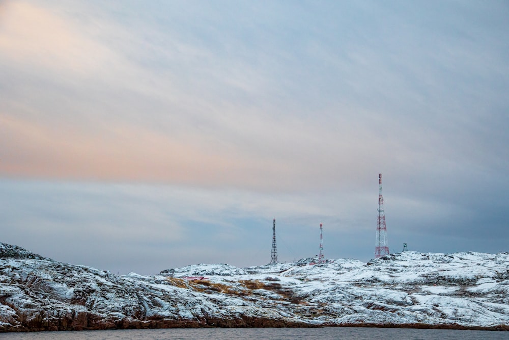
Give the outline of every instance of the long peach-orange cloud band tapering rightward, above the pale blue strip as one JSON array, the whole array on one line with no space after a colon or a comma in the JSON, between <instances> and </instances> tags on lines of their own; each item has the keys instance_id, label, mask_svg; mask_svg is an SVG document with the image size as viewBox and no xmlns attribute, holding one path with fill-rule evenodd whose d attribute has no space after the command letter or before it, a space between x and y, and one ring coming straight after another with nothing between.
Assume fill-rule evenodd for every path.
<instances>
[{"instance_id":1,"label":"long peach-orange cloud band tapering rightward, above the pale blue strip","mask_svg":"<svg viewBox=\"0 0 509 340\"><path fill-rule=\"evenodd\" d=\"M99 134L0 115L0 143L0 173L10 176L214 185L259 181L266 168L132 126Z\"/></svg>"}]
</instances>

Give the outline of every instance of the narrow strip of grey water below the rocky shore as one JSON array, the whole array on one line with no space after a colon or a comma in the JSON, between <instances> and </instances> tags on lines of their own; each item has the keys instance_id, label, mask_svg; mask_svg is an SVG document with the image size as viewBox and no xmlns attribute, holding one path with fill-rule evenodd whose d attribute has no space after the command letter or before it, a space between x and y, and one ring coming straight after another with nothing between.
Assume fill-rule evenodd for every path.
<instances>
[{"instance_id":1,"label":"narrow strip of grey water below the rocky shore","mask_svg":"<svg viewBox=\"0 0 509 340\"><path fill-rule=\"evenodd\" d=\"M401 328L174 328L0 333L2 340L473 340L509 339L509 332Z\"/></svg>"}]
</instances>

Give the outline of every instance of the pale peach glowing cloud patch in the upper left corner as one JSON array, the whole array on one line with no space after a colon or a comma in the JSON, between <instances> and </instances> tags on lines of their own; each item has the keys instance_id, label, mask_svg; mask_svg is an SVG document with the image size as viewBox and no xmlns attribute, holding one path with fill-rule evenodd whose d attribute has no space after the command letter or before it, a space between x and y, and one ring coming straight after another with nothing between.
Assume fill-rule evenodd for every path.
<instances>
[{"instance_id":1,"label":"pale peach glowing cloud patch in the upper left corner","mask_svg":"<svg viewBox=\"0 0 509 340\"><path fill-rule=\"evenodd\" d=\"M1 59L48 70L65 69L79 76L111 67L118 59L110 49L44 8L7 2L0 15Z\"/></svg>"}]
</instances>

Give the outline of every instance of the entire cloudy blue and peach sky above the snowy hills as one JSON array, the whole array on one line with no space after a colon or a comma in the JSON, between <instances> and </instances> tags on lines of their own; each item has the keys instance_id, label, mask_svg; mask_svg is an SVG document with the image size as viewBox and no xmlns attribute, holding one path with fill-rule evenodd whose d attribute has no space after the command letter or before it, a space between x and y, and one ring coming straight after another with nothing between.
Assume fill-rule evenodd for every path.
<instances>
[{"instance_id":1,"label":"entire cloudy blue and peach sky above the snowy hills","mask_svg":"<svg viewBox=\"0 0 509 340\"><path fill-rule=\"evenodd\" d=\"M507 1L0 0L0 242L112 273L509 251Z\"/></svg>"}]
</instances>

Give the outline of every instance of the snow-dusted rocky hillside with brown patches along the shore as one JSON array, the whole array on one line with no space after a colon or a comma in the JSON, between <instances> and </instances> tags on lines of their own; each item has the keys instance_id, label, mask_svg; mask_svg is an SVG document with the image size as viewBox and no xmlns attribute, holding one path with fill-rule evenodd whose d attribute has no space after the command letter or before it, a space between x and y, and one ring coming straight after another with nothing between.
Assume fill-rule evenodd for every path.
<instances>
[{"instance_id":1,"label":"snow-dusted rocky hillside with brown patches along the shore","mask_svg":"<svg viewBox=\"0 0 509 340\"><path fill-rule=\"evenodd\" d=\"M118 276L0 243L0 331L392 326L509 329L509 253L404 252Z\"/></svg>"}]
</instances>

